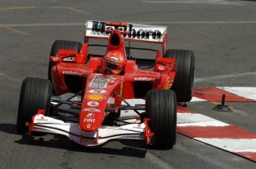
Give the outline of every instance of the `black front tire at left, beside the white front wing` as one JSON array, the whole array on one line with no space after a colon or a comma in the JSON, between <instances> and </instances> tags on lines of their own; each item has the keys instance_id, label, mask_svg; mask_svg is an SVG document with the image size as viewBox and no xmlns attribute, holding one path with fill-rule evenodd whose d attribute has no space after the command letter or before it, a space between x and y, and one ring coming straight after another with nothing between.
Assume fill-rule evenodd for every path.
<instances>
[{"instance_id":1,"label":"black front tire at left, beside the white front wing","mask_svg":"<svg viewBox=\"0 0 256 169\"><path fill-rule=\"evenodd\" d=\"M48 79L27 77L23 80L16 122L19 133L28 131L25 123L31 122L31 117L37 114L38 109L45 109L45 115L49 115L52 90L52 84Z\"/></svg>"}]
</instances>

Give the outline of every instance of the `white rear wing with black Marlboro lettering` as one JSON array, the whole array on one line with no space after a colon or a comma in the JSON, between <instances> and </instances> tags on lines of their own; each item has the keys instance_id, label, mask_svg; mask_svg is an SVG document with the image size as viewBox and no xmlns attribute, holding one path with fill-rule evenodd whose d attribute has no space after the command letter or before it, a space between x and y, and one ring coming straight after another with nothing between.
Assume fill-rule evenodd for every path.
<instances>
[{"instance_id":1,"label":"white rear wing with black Marlboro lettering","mask_svg":"<svg viewBox=\"0 0 256 169\"><path fill-rule=\"evenodd\" d=\"M159 43L166 50L167 26L87 20L85 38L108 39L115 28L120 32L129 31L129 34L122 34L125 41Z\"/></svg>"}]
</instances>

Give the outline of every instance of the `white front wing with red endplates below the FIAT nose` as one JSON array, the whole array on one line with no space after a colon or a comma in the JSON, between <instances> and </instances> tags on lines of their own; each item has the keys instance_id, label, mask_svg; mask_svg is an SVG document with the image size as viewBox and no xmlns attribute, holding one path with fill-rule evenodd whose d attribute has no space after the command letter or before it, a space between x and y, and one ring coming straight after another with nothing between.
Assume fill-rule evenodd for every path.
<instances>
[{"instance_id":1,"label":"white front wing with red endplates below the FIAT nose","mask_svg":"<svg viewBox=\"0 0 256 169\"><path fill-rule=\"evenodd\" d=\"M32 117L32 122L27 122L26 125L29 126L29 135L33 132L65 135L70 140L83 146L99 146L116 139L145 140L147 144L150 144L151 136L154 134L151 133L147 121L145 120L141 124L129 124L120 127L102 125L97 131L86 132L80 129L78 123L46 117L44 110L39 110Z\"/></svg>"}]
</instances>

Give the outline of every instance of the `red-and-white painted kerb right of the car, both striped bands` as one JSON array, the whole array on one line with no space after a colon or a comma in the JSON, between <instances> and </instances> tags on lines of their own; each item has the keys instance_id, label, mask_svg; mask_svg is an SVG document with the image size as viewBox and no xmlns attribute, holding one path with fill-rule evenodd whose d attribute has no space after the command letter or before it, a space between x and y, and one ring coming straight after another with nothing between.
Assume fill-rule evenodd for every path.
<instances>
[{"instance_id":1,"label":"red-and-white painted kerb right of the car, both striped bands","mask_svg":"<svg viewBox=\"0 0 256 169\"><path fill-rule=\"evenodd\" d=\"M197 87L192 101L256 101L256 87ZM256 162L256 133L178 106L177 132Z\"/></svg>"}]
</instances>

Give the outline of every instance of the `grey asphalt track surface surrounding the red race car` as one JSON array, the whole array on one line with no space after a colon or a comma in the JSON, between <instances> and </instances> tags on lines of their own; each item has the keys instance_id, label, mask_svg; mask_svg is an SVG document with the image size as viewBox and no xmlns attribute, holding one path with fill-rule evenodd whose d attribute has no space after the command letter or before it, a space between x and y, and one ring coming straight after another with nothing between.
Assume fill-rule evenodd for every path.
<instances>
[{"instance_id":1,"label":"grey asphalt track surface surrounding the red race car","mask_svg":"<svg viewBox=\"0 0 256 169\"><path fill-rule=\"evenodd\" d=\"M0 0L0 168L256 168L256 163L177 135L171 150L113 141L97 149L68 138L18 135L20 84L47 77L56 39L83 42L86 20L168 26L168 47L193 50L196 86L256 87L256 2L222 0ZM255 103L230 103L235 113L192 109L256 133Z\"/></svg>"}]
</instances>

